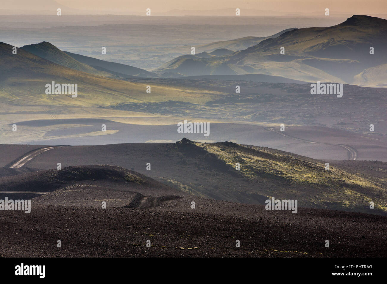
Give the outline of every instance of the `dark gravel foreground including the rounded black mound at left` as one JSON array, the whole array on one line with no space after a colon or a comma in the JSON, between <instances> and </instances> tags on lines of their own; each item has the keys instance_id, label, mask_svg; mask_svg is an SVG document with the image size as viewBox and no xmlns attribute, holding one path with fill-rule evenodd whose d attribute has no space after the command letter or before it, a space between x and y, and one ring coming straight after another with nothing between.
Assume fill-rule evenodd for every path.
<instances>
[{"instance_id":1,"label":"dark gravel foreground including the rounded black mound at left","mask_svg":"<svg viewBox=\"0 0 387 284\"><path fill-rule=\"evenodd\" d=\"M296 214L266 211L260 205L187 196L115 166L24 173L2 177L0 182L2 189L13 188L20 199L27 198L26 191L46 192L32 199L29 214L0 211L2 257L383 257L387 253L385 216L300 207ZM106 209L101 208L102 201ZM147 240L151 247L146 247ZM330 241L329 248L325 240Z\"/></svg>"}]
</instances>

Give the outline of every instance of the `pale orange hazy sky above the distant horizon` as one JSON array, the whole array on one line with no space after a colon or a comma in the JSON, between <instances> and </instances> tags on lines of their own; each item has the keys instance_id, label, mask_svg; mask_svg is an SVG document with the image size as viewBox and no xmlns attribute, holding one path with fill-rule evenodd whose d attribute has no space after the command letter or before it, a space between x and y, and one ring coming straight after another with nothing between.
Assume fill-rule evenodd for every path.
<instances>
[{"instance_id":1,"label":"pale orange hazy sky above the distant horizon","mask_svg":"<svg viewBox=\"0 0 387 284\"><path fill-rule=\"evenodd\" d=\"M2 0L0 9L5 10L51 10L61 5L77 10L99 12L132 11L152 12L180 10L217 10L240 8L272 10L286 14L301 14L324 10L348 14L385 14L387 0ZM28 14L23 12L22 14ZM243 13L241 13L243 15Z\"/></svg>"}]
</instances>

